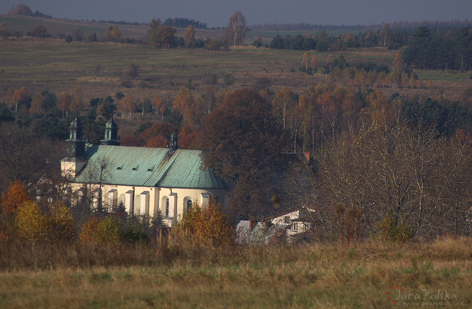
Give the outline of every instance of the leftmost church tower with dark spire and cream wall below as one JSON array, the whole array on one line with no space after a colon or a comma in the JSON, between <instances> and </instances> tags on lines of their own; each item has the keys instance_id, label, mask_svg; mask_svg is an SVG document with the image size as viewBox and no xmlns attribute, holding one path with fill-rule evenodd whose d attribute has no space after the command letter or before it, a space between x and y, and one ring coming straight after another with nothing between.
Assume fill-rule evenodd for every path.
<instances>
[{"instance_id":1,"label":"leftmost church tower with dark spire and cream wall below","mask_svg":"<svg viewBox=\"0 0 472 309\"><path fill-rule=\"evenodd\" d=\"M66 139L67 156L61 160L62 175L75 177L87 163L85 158L85 140L82 139L83 127L77 117L69 126L69 139Z\"/></svg>"}]
</instances>

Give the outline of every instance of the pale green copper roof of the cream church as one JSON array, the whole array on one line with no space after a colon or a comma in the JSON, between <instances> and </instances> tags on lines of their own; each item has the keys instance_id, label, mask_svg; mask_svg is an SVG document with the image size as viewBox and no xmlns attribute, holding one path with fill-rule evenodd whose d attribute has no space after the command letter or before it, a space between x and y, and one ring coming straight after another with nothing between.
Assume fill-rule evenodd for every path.
<instances>
[{"instance_id":1,"label":"pale green copper roof of the cream church","mask_svg":"<svg viewBox=\"0 0 472 309\"><path fill-rule=\"evenodd\" d=\"M105 159L102 183L164 188L227 188L210 169L200 169L201 150L91 145L85 150L89 159L75 182L97 183L96 162ZM92 175L92 177L91 177ZM90 178L95 178L90 180Z\"/></svg>"}]
</instances>

